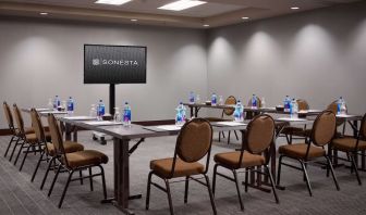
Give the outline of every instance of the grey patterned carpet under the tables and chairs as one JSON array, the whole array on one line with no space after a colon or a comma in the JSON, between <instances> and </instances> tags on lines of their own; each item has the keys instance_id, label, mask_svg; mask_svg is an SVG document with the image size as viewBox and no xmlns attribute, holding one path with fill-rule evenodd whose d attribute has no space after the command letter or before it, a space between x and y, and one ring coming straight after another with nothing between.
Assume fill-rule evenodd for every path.
<instances>
[{"instance_id":1,"label":"grey patterned carpet under the tables and chairs","mask_svg":"<svg viewBox=\"0 0 366 215\"><path fill-rule=\"evenodd\" d=\"M30 176L36 165L37 155L29 154L22 172L19 165L15 167L3 157L5 147L10 137L0 137L0 214L121 214L110 204L100 204L102 198L101 181L95 178L95 191L89 191L89 184L83 186L78 181L71 184L62 208L57 204L65 184L65 174L61 174L54 187L53 193L47 198L50 186L50 178L44 190L39 190L40 180L45 173L46 165L42 164L35 181L30 182ZM215 141L212 154L232 150L237 141L232 137L233 143L228 146L224 142ZM112 142L100 146L90 140L90 132L80 132L80 142L87 149L97 149L112 159ZM149 170L149 161L159 157L167 157L173 154L175 137L150 138L131 156L131 192L143 193L142 200L130 202L131 208L136 214L169 214L167 195L162 191L151 188L150 210L145 211L146 180ZM211 161L209 177L211 178L213 161ZM113 177L112 162L106 166L108 194L112 194ZM242 189L245 212L240 211L236 190L233 182L218 178L216 204L218 214L333 214L333 215L364 215L366 214L366 185L358 186L350 169L340 167L335 169L341 191L337 191L331 178L327 178L325 170L318 166L309 166L309 177L314 189L314 197L308 195L306 185L303 182L302 174L294 169L283 167L282 185L286 190L278 190L280 204L276 204L271 193L249 189L247 193ZM53 176L53 174L50 174ZM363 182L366 184L366 173L361 173ZM243 178L243 175L240 176ZM156 178L155 181L161 184ZM172 184L172 199L176 214L212 214L208 193L205 187L195 181L190 184L188 204L183 203L184 182Z\"/></svg>"}]
</instances>

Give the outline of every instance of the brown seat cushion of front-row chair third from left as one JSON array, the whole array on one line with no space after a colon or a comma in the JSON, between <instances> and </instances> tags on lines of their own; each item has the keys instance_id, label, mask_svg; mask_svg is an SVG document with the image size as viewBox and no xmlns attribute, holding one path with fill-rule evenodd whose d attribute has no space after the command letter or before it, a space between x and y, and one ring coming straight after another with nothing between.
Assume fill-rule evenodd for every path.
<instances>
[{"instance_id":1,"label":"brown seat cushion of front-row chair third from left","mask_svg":"<svg viewBox=\"0 0 366 215\"><path fill-rule=\"evenodd\" d=\"M308 146L307 143L281 146L279 148L279 153L291 156L291 157L295 157L295 159L305 159L307 146ZM324 150L322 148L310 146L308 157L315 159L315 157L324 156L325 154L326 154L326 150Z\"/></svg>"}]
</instances>

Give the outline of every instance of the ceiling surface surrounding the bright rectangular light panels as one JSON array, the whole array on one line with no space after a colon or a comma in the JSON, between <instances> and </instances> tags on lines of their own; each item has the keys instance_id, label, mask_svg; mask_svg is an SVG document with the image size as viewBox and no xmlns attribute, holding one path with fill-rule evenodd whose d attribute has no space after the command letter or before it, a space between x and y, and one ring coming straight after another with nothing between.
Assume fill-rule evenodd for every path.
<instances>
[{"instance_id":1,"label":"ceiling surface surrounding the bright rectangular light panels","mask_svg":"<svg viewBox=\"0 0 366 215\"><path fill-rule=\"evenodd\" d=\"M357 0L206 0L208 3L180 12L158 10L157 8L174 0L133 0L122 5L94 3L96 0L0 0L0 15L40 16L45 18L63 18L73 21L95 21L111 23L167 25L176 27L202 28L244 22L265 17L296 13L350 3ZM300 10L291 10L298 7Z\"/></svg>"}]
</instances>

